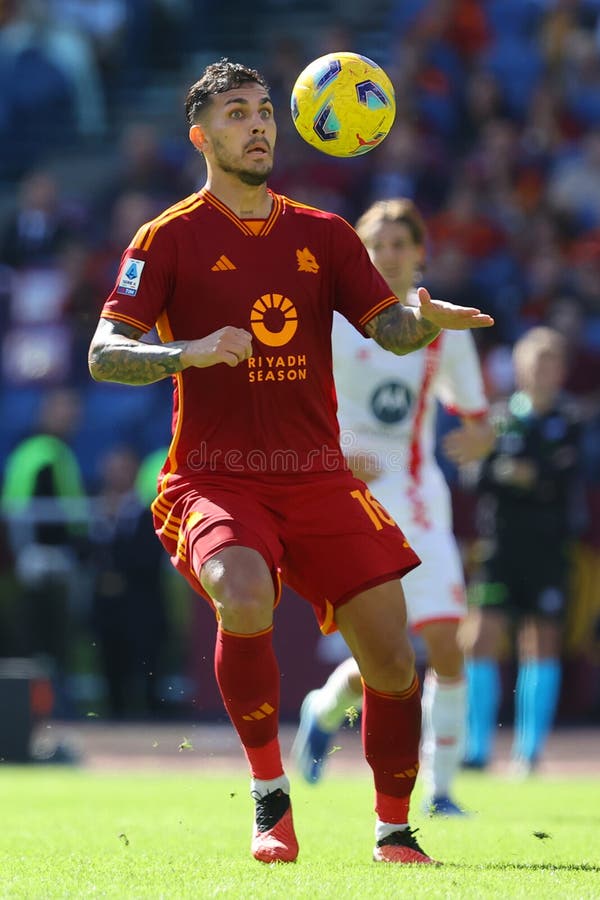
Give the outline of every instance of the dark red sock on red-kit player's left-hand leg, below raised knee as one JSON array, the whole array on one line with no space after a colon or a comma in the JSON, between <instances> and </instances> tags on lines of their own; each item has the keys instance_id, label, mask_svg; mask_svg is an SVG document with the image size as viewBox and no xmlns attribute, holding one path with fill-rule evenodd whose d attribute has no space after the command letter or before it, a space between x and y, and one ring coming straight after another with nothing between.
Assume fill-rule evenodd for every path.
<instances>
[{"instance_id":1,"label":"dark red sock on red-kit player's left-hand leg, below raised knee","mask_svg":"<svg viewBox=\"0 0 600 900\"><path fill-rule=\"evenodd\" d=\"M219 628L215 674L225 709L240 736L254 778L283 775L279 747L279 666L273 628L233 634Z\"/></svg>"}]
</instances>

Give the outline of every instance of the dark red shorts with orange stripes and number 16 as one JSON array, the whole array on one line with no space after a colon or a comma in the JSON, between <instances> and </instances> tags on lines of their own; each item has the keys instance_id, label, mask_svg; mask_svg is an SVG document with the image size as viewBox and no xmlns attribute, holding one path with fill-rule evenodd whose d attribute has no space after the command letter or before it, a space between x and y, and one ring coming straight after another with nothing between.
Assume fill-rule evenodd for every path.
<instances>
[{"instance_id":1,"label":"dark red shorts with orange stripes and number 16","mask_svg":"<svg viewBox=\"0 0 600 900\"><path fill-rule=\"evenodd\" d=\"M192 557L199 569L224 547L250 547L276 593L281 577L313 605L325 633L335 630L336 607L420 563L364 482L344 471L269 482L170 475L152 510L171 562L199 594Z\"/></svg>"}]
</instances>

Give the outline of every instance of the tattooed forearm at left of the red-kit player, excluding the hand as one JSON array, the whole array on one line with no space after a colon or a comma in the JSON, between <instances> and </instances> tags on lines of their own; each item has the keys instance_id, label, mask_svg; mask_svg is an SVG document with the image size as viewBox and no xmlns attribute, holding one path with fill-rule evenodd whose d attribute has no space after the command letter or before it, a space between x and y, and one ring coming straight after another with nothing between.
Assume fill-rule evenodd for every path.
<instances>
[{"instance_id":1,"label":"tattooed forearm at left of the red-kit player, excluding the hand","mask_svg":"<svg viewBox=\"0 0 600 900\"><path fill-rule=\"evenodd\" d=\"M131 325L100 319L89 351L89 368L96 381L152 384L181 372L185 341L147 344Z\"/></svg>"}]
</instances>

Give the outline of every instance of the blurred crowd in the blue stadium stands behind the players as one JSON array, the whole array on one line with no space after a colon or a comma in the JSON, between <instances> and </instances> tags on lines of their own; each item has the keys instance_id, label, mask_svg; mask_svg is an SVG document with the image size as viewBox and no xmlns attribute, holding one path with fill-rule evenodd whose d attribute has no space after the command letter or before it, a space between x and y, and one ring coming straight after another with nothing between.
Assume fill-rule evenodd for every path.
<instances>
[{"instance_id":1,"label":"blurred crowd in the blue stadium stands behind the players","mask_svg":"<svg viewBox=\"0 0 600 900\"><path fill-rule=\"evenodd\" d=\"M356 160L305 146L288 113L300 70L340 49L375 59L396 88L396 125ZM275 190L351 222L378 198L416 201L424 282L496 318L477 334L491 401L512 390L511 348L528 327L568 337L586 482L568 651L580 712L600 716L600 0L0 0L2 469L24 437L62 429L81 497L122 496L168 442L170 385L95 384L87 347L139 225L203 183L183 97L222 55L271 84ZM472 502L445 468L468 563ZM164 616L157 601L155 631Z\"/></svg>"}]
</instances>

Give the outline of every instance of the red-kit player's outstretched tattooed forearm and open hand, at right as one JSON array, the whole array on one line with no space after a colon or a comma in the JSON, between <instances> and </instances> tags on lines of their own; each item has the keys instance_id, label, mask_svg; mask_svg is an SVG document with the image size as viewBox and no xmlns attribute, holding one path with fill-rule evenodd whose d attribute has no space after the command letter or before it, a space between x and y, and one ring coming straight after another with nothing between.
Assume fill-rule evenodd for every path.
<instances>
[{"instance_id":1,"label":"red-kit player's outstretched tattooed forearm and open hand, at right","mask_svg":"<svg viewBox=\"0 0 600 900\"><path fill-rule=\"evenodd\" d=\"M369 337L384 350L404 356L426 347L442 328L463 331L489 328L494 324L491 316L474 307L433 300L426 288L419 288L417 294L418 307L395 303L377 313L364 326Z\"/></svg>"}]
</instances>

